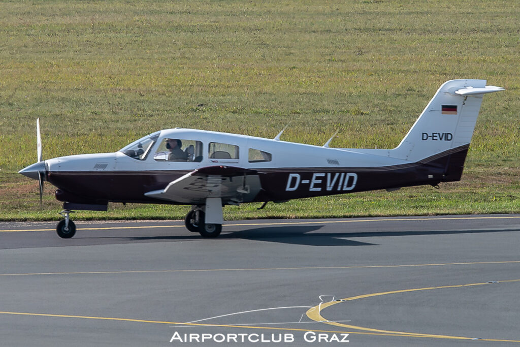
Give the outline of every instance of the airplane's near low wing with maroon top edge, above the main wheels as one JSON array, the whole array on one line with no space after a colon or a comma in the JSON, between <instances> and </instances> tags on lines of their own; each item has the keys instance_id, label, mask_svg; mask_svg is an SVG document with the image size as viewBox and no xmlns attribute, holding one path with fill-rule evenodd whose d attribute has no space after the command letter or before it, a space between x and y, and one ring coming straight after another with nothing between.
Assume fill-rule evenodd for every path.
<instances>
[{"instance_id":1,"label":"airplane's near low wing with maroon top edge, above the main wheels","mask_svg":"<svg viewBox=\"0 0 520 347\"><path fill-rule=\"evenodd\" d=\"M258 172L234 166L206 166L177 178L162 190L146 196L178 203L199 204L207 198L222 198L223 203L252 201L262 189Z\"/></svg>"}]
</instances>

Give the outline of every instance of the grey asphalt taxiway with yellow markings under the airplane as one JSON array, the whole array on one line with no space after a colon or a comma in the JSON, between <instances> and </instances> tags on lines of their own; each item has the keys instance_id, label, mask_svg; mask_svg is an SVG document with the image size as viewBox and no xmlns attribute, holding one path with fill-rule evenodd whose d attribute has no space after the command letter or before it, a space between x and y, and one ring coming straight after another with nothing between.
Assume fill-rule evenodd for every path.
<instances>
[{"instance_id":1,"label":"grey asphalt taxiway with yellow markings under the airplane","mask_svg":"<svg viewBox=\"0 0 520 347\"><path fill-rule=\"evenodd\" d=\"M2 345L520 345L520 215L183 224L0 223Z\"/></svg>"}]
</instances>

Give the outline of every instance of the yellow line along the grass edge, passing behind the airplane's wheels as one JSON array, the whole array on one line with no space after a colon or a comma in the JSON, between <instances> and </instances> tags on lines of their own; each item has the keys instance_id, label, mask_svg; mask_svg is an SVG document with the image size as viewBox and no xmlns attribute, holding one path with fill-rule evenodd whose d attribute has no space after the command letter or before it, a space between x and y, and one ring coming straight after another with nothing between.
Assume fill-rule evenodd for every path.
<instances>
[{"instance_id":1,"label":"yellow line along the grass edge, passing behind the airplane's wheels","mask_svg":"<svg viewBox=\"0 0 520 347\"><path fill-rule=\"evenodd\" d=\"M456 220L500 220L500 219L520 219L520 216L465 216L465 217L413 217L413 218L384 218L384 219L363 219L363 220L339 220L339 221L312 221L312 222L273 222L273 223L237 223L226 224L226 226L272 226L272 225L306 225L306 224L337 224L337 223L367 223L367 222L402 222L402 221L456 221ZM113 230L113 229L151 229L151 228L180 228L184 225L144 225L144 226L111 226L111 227L90 227L76 228L76 230ZM16 232L47 232L50 229L5 229L0 233Z\"/></svg>"}]
</instances>

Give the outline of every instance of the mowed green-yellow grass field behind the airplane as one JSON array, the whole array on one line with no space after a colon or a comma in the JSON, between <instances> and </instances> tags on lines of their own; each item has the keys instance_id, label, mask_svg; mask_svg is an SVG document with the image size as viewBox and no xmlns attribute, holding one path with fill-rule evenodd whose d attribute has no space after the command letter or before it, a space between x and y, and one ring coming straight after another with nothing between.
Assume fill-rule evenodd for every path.
<instances>
[{"instance_id":1,"label":"mowed green-yellow grass field behind the airplane","mask_svg":"<svg viewBox=\"0 0 520 347\"><path fill-rule=\"evenodd\" d=\"M225 209L226 219L520 212L520 6L456 3L2 2L0 219L58 219L16 172L112 152L170 127L332 147L392 148L440 84L487 95L460 183ZM74 219L179 219L186 207L110 204Z\"/></svg>"}]
</instances>

